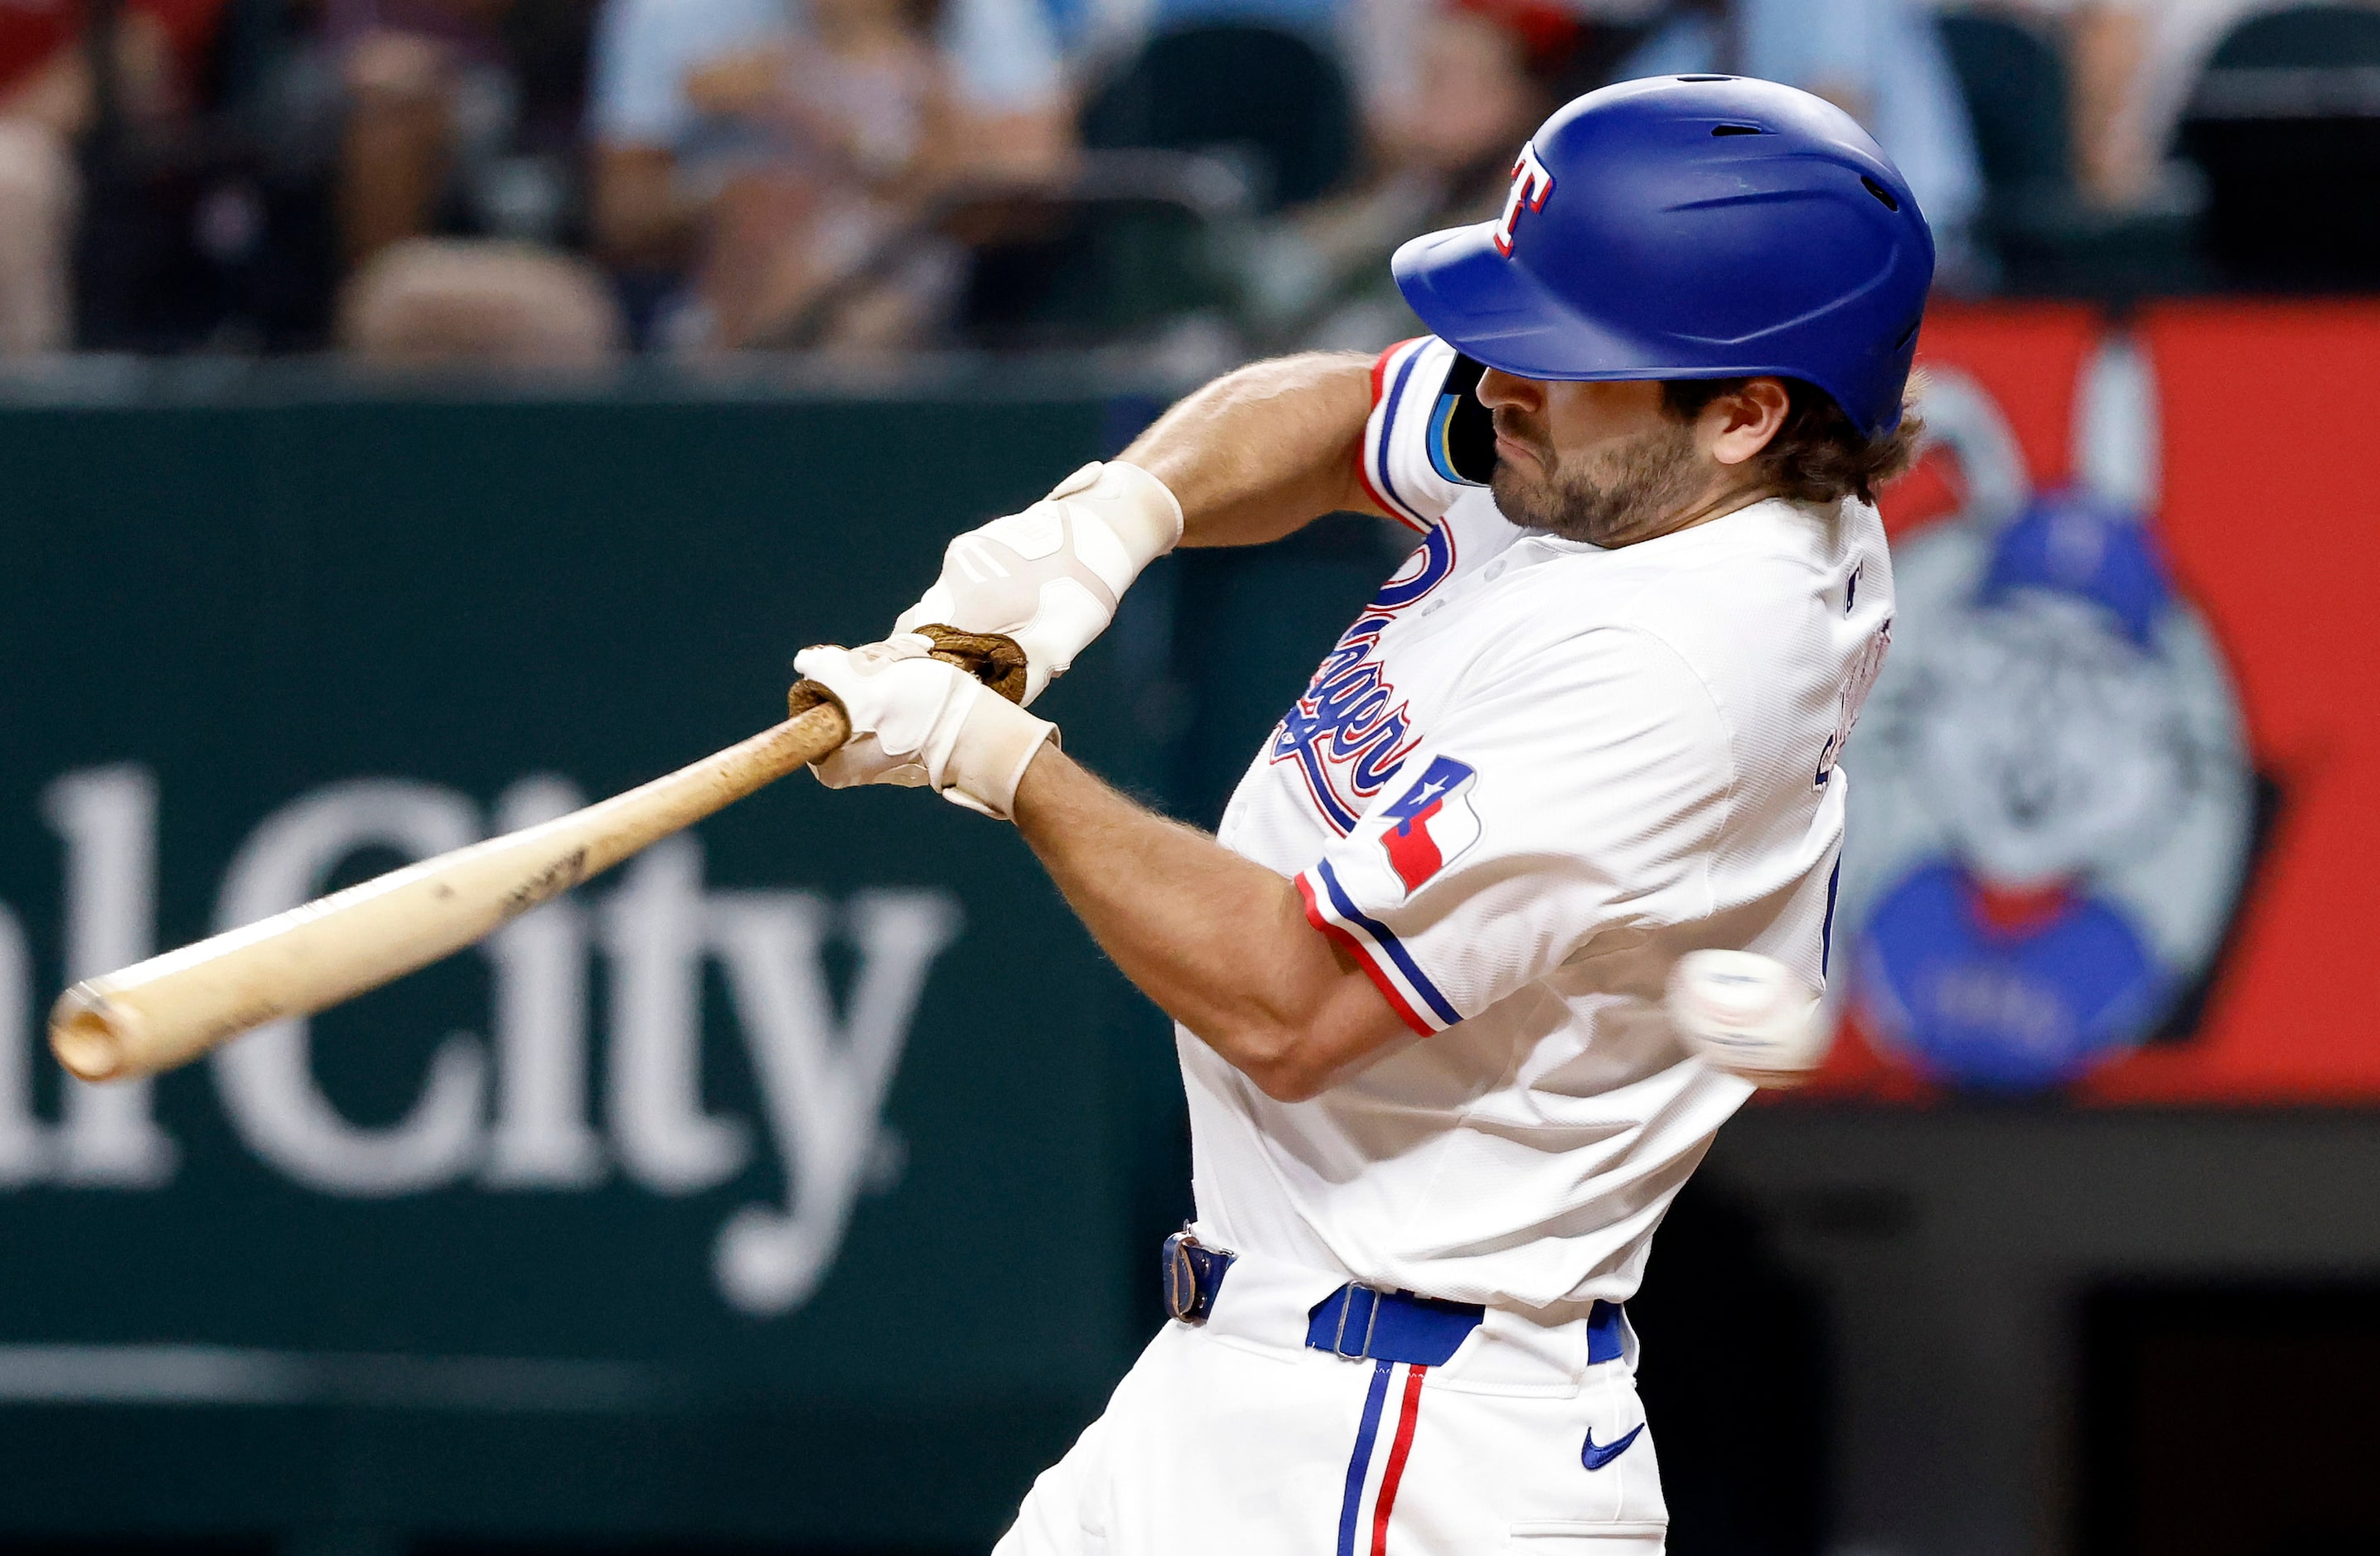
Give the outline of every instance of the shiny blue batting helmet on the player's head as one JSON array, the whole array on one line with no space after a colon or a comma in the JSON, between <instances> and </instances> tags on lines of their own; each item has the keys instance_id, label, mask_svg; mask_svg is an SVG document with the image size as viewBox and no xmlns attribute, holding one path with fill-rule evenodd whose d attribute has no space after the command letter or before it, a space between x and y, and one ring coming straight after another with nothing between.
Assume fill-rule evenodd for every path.
<instances>
[{"instance_id":1,"label":"shiny blue batting helmet on the player's head","mask_svg":"<svg viewBox=\"0 0 2380 1556\"><path fill-rule=\"evenodd\" d=\"M1806 378L1871 438L1902 421L1933 233L1883 148L1775 81L1656 76L1578 98L1504 214L1414 238L1397 288L1521 378Z\"/></svg>"}]
</instances>

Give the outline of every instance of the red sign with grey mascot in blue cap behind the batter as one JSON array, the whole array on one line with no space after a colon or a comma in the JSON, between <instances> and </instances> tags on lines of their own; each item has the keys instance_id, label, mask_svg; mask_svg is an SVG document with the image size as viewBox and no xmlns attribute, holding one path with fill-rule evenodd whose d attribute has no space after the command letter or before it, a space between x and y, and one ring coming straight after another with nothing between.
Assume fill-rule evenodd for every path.
<instances>
[{"instance_id":1,"label":"red sign with grey mascot in blue cap behind the batter","mask_svg":"<svg viewBox=\"0 0 2380 1556\"><path fill-rule=\"evenodd\" d=\"M2380 1099L2380 531L2316 431L2368 350L2368 305L1928 324L1806 1094Z\"/></svg>"}]
</instances>

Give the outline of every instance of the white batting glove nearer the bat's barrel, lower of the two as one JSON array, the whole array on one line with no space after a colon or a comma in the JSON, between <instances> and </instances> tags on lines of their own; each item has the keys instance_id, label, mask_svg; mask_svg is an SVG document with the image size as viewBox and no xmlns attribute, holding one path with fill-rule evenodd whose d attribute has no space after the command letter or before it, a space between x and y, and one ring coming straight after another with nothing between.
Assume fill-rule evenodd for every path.
<instances>
[{"instance_id":1,"label":"white batting glove nearer the bat's barrel, lower of the two","mask_svg":"<svg viewBox=\"0 0 2380 1556\"><path fill-rule=\"evenodd\" d=\"M821 645L795 654L793 669L831 690L852 721L843 749L809 771L831 790L923 785L1004 821L1026 766L1045 740L1057 740L1057 726L931 650L926 638L897 633L857 650Z\"/></svg>"}]
</instances>

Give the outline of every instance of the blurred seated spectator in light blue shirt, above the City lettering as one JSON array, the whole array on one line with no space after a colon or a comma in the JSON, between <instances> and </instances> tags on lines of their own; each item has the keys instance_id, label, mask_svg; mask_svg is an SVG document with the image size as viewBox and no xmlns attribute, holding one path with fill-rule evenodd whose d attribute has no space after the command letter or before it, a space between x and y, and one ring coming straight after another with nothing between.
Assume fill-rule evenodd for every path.
<instances>
[{"instance_id":1,"label":"blurred seated spectator in light blue shirt, above the City lettering","mask_svg":"<svg viewBox=\"0 0 2380 1556\"><path fill-rule=\"evenodd\" d=\"M1071 155L1035 0L607 0L590 121L597 245L678 347L769 343L826 302L833 340L909 340L964 259L921 240L862 276L883 238Z\"/></svg>"}]
</instances>

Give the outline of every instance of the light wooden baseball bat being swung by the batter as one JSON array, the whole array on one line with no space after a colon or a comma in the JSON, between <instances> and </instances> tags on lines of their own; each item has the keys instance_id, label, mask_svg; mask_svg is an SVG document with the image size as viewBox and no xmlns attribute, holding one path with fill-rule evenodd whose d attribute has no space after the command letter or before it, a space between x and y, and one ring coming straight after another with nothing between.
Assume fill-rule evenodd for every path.
<instances>
[{"instance_id":1,"label":"light wooden baseball bat being swung by the batter","mask_svg":"<svg viewBox=\"0 0 2380 1556\"><path fill-rule=\"evenodd\" d=\"M188 1064L267 1021L312 1016L459 952L826 757L850 730L840 707L819 702L626 795L76 983L50 1009L50 1052L83 1080L129 1080Z\"/></svg>"}]
</instances>

